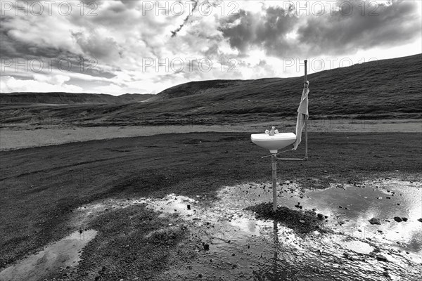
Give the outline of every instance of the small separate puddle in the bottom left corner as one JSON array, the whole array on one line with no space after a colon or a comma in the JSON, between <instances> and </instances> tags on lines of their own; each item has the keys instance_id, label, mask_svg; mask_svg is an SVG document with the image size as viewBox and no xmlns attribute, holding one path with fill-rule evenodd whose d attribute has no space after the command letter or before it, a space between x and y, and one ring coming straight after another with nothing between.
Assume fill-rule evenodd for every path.
<instances>
[{"instance_id":1,"label":"small separate puddle in the bottom left corner","mask_svg":"<svg viewBox=\"0 0 422 281\"><path fill-rule=\"evenodd\" d=\"M20 263L4 269L0 273L0 280L42 280L51 273L73 270L79 263L82 249L95 236L96 230L72 233L58 242L49 244L38 254L28 256Z\"/></svg>"}]
</instances>

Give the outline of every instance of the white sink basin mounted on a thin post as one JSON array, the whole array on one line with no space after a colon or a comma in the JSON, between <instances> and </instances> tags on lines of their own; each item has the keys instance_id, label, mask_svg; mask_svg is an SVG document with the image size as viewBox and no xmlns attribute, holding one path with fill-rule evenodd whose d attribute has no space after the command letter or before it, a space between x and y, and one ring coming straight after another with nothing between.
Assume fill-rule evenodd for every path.
<instances>
[{"instance_id":1,"label":"white sink basin mounted on a thin post","mask_svg":"<svg viewBox=\"0 0 422 281\"><path fill-rule=\"evenodd\" d=\"M268 149L270 153L277 153L277 150L294 143L296 135L294 133L276 133L274 136L269 136L268 133L254 133L250 135L250 141L261 148Z\"/></svg>"}]
</instances>

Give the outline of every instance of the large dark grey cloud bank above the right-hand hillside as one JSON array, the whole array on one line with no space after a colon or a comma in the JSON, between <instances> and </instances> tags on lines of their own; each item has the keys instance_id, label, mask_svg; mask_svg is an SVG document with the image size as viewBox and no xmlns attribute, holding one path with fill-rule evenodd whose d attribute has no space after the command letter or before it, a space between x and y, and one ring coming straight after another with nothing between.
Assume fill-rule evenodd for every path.
<instances>
[{"instance_id":1,"label":"large dark grey cloud bank above the right-hand hillside","mask_svg":"<svg viewBox=\"0 0 422 281\"><path fill-rule=\"evenodd\" d=\"M252 47L279 57L352 54L358 49L405 44L421 34L416 1L377 4L374 11L366 3L364 15L361 1L342 3L338 1L337 7L343 6L345 10L326 11L320 16L316 13L298 16L291 7L288 11L280 7L256 13L241 11L236 17L222 19L220 30L241 55L248 55ZM296 32L297 37L289 37L291 32Z\"/></svg>"}]
</instances>

